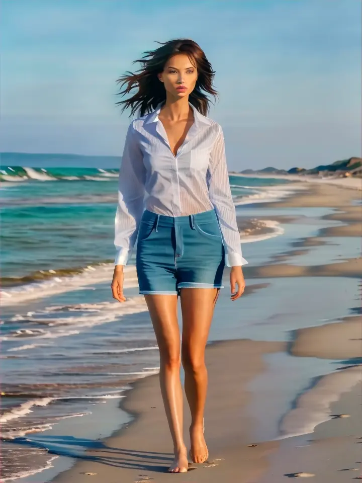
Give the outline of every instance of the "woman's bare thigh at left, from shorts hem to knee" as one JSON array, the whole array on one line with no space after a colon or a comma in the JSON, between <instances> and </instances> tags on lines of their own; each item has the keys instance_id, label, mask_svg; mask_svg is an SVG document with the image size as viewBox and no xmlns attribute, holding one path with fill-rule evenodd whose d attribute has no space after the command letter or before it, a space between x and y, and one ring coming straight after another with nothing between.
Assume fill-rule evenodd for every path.
<instances>
[{"instance_id":1,"label":"woman's bare thigh at left, from shorts hem to knee","mask_svg":"<svg viewBox=\"0 0 362 483\"><path fill-rule=\"evenodd\" d=\"M144 295L156 335L160 355L179 357L177 295Z\"/></svg>"}]
</instances>

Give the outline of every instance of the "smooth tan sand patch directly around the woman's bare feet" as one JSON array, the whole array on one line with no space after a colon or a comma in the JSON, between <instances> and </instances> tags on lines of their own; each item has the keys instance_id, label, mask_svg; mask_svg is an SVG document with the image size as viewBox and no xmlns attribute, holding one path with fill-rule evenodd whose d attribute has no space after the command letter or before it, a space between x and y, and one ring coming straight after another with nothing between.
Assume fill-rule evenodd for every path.
<instances>
[{"instance_id":1,"label":"smooth tan sand patch directly around the woman's bare feet","mask_svg":"<svg viewBox=\"0 0 362 483\"><path fill-rule=\"evenodd\" d=\"M206 363L209 371L209 393L205 411L205 435L210 457L205 463L193 465L183 475L171 475L167 468L172 462L172 442L164 415L159 391L158 375L134 383L134 389L122 403L122 408L134 416L134 423L108 438L102 448L89 450L69 471L56 477L58 483L89 481L97 473L96 481L154 481L213 482L235 477L242 464L240 483L257 478L267 468L266 455L278 447L278 442L253 444L253 420L246 408L250 395L247 384L265 368L266 353L285 349L285 343L255 341L227 341L208 345ZM184 397L184 431L188 434L190 415ZM227 431L225 431L227 428ZM186 439L187 442L188 439ZM213 464L214 466L208 466ZM205 467L206 466L206 467ZM231 481L229 479L228 481Z\"/></svg>"}]
</instances>

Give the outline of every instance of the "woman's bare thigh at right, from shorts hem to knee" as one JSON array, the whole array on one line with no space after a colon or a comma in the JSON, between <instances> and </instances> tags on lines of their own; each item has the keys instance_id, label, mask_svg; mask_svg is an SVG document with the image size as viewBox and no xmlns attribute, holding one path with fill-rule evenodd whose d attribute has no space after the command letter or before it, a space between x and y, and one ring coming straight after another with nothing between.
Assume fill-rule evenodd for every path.
<instances>
[{"instance_id":1,"label":"woman's bare thigh at right, from shorts hem to knee","mask_svg":"<svg viewBox=\"0 0 362 483\"><path fill-rule=\"evenodd\" d=\"M181 288L182 342L197 355L204 352L220 288Z\"/></svg>"}]
</instances>

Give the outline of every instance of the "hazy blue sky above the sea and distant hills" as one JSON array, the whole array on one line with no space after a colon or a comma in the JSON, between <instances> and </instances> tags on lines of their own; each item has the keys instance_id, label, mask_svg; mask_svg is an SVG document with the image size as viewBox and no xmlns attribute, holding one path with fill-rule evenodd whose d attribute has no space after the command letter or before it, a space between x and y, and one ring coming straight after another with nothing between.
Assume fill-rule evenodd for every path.
<instances>
[{"instance_id":1,"label":"hazy blue sky above the sea and distant hills","mask_svg":"<svg viewBox=\"0 0 362 483\"><path fill-rule=\"evenodd\" d=\"M3 0L2 151L122 154L116 79L155 41L216 70L230 170L361 155L360 0Z\"/></svg>"}]
</instances>

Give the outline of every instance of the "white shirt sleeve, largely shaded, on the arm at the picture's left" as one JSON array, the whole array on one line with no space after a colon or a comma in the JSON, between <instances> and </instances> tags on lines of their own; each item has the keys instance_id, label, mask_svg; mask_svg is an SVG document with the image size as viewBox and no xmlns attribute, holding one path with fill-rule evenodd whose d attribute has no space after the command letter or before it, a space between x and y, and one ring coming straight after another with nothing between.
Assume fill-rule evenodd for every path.
<instances>
[{"instance_id":1,"label":"white shirt sleeve, largely shaded, on the arm at the picture's left","mask_svg":"<svg viewBox=\"0 0 362 483\"><path fill-rule=\"evenodd\" d=\"M115 265L127 264L136 243L139 222L144 209L146 172L136 135L131 123L126 134L118 176L118 206L114 238L117 250Z\"/></svg>"}]
</instances>

